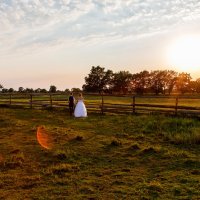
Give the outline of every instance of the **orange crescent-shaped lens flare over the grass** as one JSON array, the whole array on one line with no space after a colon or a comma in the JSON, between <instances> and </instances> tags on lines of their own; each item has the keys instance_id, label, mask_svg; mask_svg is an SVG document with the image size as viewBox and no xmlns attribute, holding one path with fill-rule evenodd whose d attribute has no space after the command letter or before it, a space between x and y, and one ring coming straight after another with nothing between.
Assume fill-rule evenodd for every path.
<instances>
[{"instance_id":1,"label":"orange crescent-shaped lens flare over the grass","mask_svg":"<svg viewBox=\"0 0 200 200\"><path fill-rule=\"evenodd\" d=\"M45 149L53 148L53 139L43 126L37 128L37 141Z\"/></svg>"}]
</instances>

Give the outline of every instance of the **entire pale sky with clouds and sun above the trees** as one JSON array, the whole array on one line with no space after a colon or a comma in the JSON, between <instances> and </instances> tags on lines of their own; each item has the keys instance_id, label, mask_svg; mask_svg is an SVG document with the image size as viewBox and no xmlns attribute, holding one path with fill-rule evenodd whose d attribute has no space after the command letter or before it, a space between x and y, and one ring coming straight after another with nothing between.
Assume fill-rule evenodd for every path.
<instances>
[{"instance_id":1,"label":"entire pale sky with clouds and sun above the trees","mask_svg":"<svg viewBox=\"0 0 200 200\"><path fill-rule=\"evenodd\" d=\"M98 65L184 71L196 79L197 52L199 0L0 0L5 88L81 88Z\"/></svg>"}]
</instances>

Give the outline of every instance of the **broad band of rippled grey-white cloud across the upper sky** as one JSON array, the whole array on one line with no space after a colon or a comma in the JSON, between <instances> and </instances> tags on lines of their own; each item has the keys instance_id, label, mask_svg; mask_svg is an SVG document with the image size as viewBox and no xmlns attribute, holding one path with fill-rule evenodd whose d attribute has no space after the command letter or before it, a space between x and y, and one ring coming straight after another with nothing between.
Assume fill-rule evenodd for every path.
<instances>
[{"instance_id":1,"label":"broad band of rippled grey-white cloud across the upper sky","mask_svg":"<svg viewBox=\"0 0 200 200\"><path fill-rule=\"evenodd\" d=\"M69 43L120 41L173 30L200 19L200 2L3 0L0 19L0 53L22 49L27 52Z\"/></svg>"}]
</instances>

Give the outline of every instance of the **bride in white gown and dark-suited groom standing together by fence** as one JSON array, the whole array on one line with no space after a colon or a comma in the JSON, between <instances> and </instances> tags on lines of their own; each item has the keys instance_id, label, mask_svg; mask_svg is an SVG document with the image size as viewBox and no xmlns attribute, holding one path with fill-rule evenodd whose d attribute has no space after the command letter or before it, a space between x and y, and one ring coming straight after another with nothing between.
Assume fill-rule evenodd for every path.
<instances>
[{"instance_id":1,"label":"bride in white gown and dark-suited groom standing together by fence","mask_svg":"<svg viewBox=\"0 0 200 200\"><path fill-rule=\"evenodd\" d=\"M69 96L69 113L71 116L73 112L74 112L75 117L87 117L87 110L86 110L85 104L83 103L83 96L81 93L78 96L77 104L73 96L73 93L71 93Z\"/></svg>"}]
</instances>

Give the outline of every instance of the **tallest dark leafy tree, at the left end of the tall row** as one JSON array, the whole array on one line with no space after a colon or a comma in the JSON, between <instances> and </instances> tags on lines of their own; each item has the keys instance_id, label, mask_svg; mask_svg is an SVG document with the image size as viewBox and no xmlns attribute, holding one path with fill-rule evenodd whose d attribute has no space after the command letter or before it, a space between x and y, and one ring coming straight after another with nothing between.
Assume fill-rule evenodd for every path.
<instances>
[{"instance_id":1,"label":"tallest dark leafy tree, at the left end of the tall row","mask_svg":"<svg viewBox=\"0 0 200 200\"><path fill-rule=\"evenodd\" d=\"M85 77L85 84L82 88L87 92L101 92L111 84L112 76L111 70L105 71L103 67L92 66L90 73Z\"/></svg>"}]
</instances>

